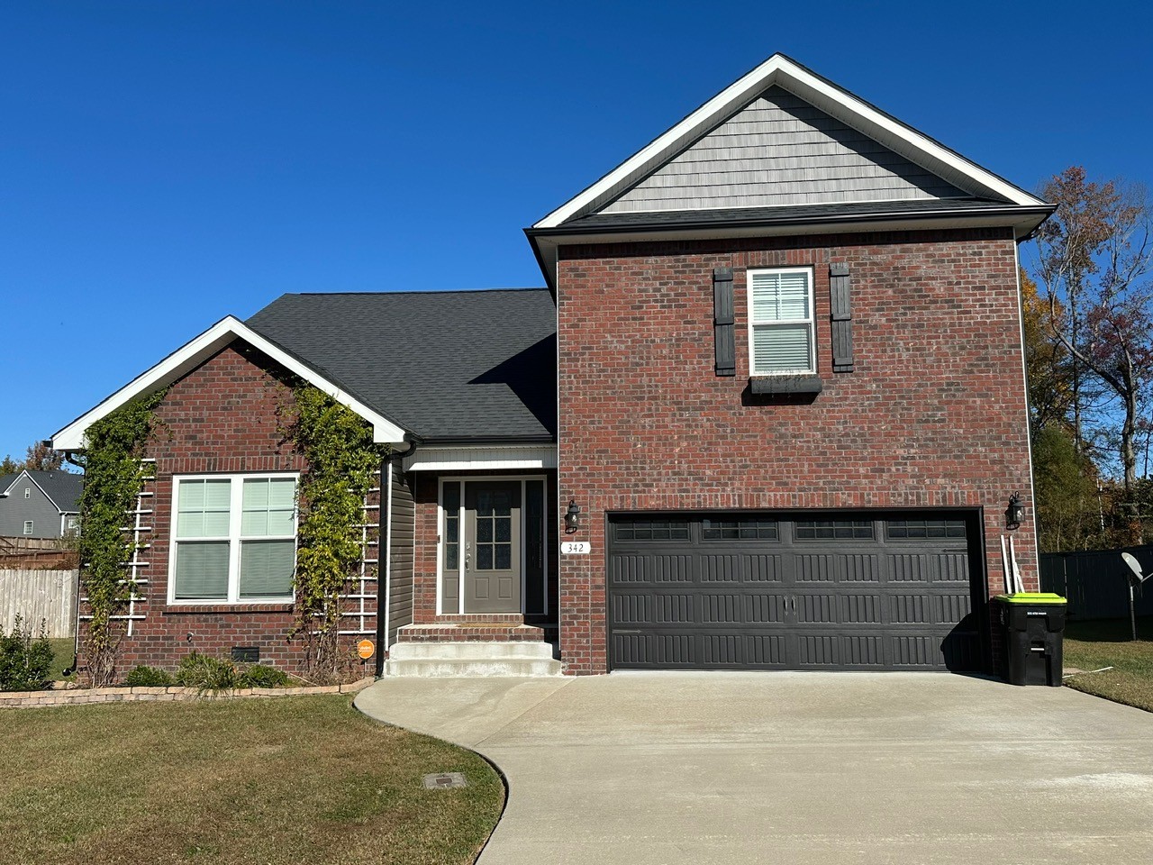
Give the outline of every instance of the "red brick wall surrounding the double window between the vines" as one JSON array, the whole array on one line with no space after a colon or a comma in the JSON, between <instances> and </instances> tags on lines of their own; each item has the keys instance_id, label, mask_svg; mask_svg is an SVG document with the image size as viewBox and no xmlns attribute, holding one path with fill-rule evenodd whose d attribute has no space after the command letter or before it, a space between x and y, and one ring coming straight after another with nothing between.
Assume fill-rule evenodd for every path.
<instances>
[{"instance_id":1,"label":"red brick wall surrounding the double window between the vines","mask_svg":"<svg viewBox=\"0 0 1153 865\"><path fill-rule=\"evenodd\" d=\"M142 554L150 563L141 572L149 579L148 601L137 604L145 618L133 624L122 644L122 670L136 664L172 669L193 649L227 657L233 646L258 646L262 663L302 669L303 646L287 638L295 622L292 604L167 603L174 474L304 468L279 430L278 407L292 405L282 381L276 363L238 341L174 383L158 406L146 453L157 468L149 484L155 496L144 505L153 509L152 546Z\"/></svg>"}]
</instances>

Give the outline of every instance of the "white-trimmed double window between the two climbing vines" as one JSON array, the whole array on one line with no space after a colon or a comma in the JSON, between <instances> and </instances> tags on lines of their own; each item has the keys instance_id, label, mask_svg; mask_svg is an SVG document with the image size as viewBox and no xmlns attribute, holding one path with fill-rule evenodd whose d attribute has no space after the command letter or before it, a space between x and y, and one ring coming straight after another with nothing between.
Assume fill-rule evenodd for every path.
<instances>
[{"instance_id":1,"label":"white-trimmed double window between the two climbing vines","mask_svg":"<svg viewBox=\"0 0 1153 865\"><path fill-rule=\"evenodd\" d=\"M296 569L295 474L173 479L169 603L284 603Z\"/></svg>"}]
</instances>

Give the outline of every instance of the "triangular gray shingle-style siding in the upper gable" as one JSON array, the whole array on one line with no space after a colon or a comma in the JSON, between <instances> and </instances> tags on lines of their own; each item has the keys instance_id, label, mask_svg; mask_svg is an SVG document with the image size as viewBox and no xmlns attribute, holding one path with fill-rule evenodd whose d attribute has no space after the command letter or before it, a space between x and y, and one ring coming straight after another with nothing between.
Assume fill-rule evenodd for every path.
<instances>
[{"instance_id":1,"label":"triangular gray shingle-style siding in the upper gable","mask_svg":"<svg viewBox=\"0 0 1153 865\"><path fill-rule=\"evenodd\" d=\"M956 197L967 195L773 86L598 212Z\"/></svg>"}]
</instances>

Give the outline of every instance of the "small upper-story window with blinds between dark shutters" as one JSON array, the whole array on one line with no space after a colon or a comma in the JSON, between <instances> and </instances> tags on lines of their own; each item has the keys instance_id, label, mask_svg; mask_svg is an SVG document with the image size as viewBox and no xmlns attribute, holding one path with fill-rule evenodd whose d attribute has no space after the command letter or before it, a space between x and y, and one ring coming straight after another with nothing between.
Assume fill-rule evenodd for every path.
<instances>
[{"instance_id":1,"label":"small upper-story window with blinds between dark shutters","mask_svg":"<svg viewBox=\"0 0 1153 865\"><path fill-rule=\"evenodd\" d=\"M752 375L815 373L812 269L749 270L747 291Z\"/></svg>"}]
</instances>

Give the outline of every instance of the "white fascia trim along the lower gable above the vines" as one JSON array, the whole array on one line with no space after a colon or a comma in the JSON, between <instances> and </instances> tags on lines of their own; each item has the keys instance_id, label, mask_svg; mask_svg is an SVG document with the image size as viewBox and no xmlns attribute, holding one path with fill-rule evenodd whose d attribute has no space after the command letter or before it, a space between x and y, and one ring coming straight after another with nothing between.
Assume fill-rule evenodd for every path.
<instances>
[{"instance_id":1,"label":"white fascia trim along the lower gable above the vines","mask_svg":"<svg viewBox=\"0 0 1153 865\"><path fill-rule=\"evenodd\" d=\"M146 373L137 376L98 406L82 414L56 432L52 437L53 449L58 451L84 450L86 445L84 434L92 423L107 416L131 399L153 393L160 388L167 386L181 376L190 373L235 339L242 339L254 348L264 352L264 354L272 358L277 363L300 376L309 384L319 388L334 400L347 406L371 423L374 442L390 444L401 444L404 442L404 429L322 377L316 370L310 369L292 354L270 343L239 318L229 315L221 318L191 341L186 343Z\"/></svg>"}]
</instances>

